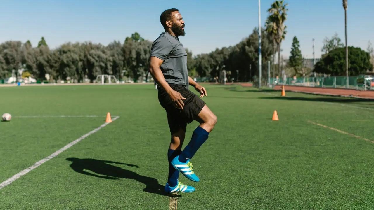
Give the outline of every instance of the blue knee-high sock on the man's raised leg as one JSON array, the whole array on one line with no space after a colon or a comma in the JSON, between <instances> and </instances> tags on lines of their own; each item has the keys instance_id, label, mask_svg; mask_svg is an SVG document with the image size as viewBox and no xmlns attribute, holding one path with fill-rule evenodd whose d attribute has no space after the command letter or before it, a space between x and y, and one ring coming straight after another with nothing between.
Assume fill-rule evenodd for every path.
<instances>
[{"instance_id":1,"label":"blue knee-high sock on the man's raised leg","mask_svg":"<svg viewBox=\"0 0 374 210\"><path fill-rule=\"evenodd\" d=\"M204 130L202 127L198 126L191 137L190 142L188 145L183 149L183 152L179 155L178 160L186 163L187 159L191 159L193 155L196 153L197 149L200 148L201 145L205 142L206 139L209 137L209 132Z\"/></svg>"}]
</instances>

